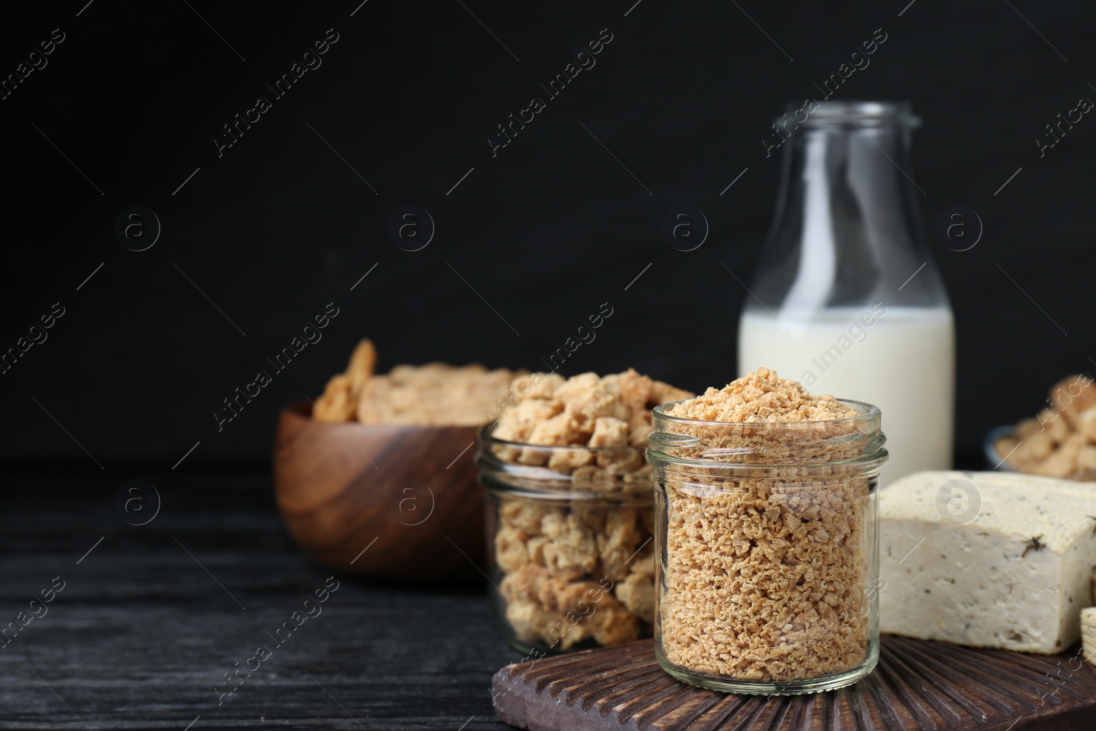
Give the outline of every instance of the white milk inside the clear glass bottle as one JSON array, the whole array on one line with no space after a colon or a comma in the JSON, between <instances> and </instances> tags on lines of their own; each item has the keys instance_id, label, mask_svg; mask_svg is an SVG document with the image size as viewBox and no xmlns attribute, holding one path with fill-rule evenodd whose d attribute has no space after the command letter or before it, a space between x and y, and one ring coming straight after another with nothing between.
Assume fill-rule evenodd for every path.
<instances>
[{"instance_id":1,"label":"white milk inside the clear glass bottle","mask_svg":"<svg viewBox=\"0 0 1096 731\"><path fill-rule=\"evenodd\" d=\"M877 305L779 322L747 310L739 327L739 374L761 366L811 393L879 407L890 453L881 487L921 469L950 469L955 321L947 308Z\"/></svg>"}]
</instances>

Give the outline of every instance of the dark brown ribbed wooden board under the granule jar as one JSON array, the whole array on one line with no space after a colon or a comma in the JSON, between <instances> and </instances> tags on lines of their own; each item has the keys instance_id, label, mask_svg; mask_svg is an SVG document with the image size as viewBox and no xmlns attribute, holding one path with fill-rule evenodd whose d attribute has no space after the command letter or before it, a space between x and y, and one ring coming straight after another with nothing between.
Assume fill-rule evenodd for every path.
<instances>
[{"instance_id":1,"label":"dark brown ribbed wooden board under the granule jar","mask_svg":"<svg viewBox=\"0 0 1096 731\"><path fill-rule=\"evenodd\" d=\"M856 685L765 697L675 681L640 640L507 665L492 695L500 718L530 731L1092 731L1096 673L1077 656L884 636L876 672Z\"/></svg>"}]
</instances>

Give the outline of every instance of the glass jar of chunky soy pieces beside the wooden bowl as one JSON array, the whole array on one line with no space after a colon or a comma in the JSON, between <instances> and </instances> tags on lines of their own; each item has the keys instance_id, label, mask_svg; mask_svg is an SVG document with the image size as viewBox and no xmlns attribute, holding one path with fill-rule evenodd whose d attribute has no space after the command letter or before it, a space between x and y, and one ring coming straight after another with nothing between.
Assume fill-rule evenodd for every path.
<instances>
[{"instance_id":1,"label":"glass jar of chunky soy pieces beside the wooden bowl","mask_svg":"<svg viewBox=\"0 0 1096 731\"><path fill-rule=\"evenodd\" d=\"M650 637L653 482L630 446L537 446L480 433L495 617L527 656Z\"/></svg>"}]
</instances>

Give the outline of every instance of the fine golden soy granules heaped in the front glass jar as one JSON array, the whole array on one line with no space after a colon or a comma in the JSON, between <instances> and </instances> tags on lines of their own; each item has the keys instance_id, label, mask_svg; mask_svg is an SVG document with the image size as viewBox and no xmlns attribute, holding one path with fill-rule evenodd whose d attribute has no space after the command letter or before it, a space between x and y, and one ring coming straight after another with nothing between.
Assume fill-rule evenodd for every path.
<instances>
[{"instance_id":1,"label":"fine golden soy granules heaped in the front glass jar","mask_svg":"<svg viewBox=\"0 0 1096 731\"><path fill-rule=\"evenodd\" d=\"M832 397L811 396L765 368L726 388L709 388L667 414L698 420L695 427L675 422L675 429L700 441L697 456L711 458L711 447L726 454L741 446L760 452L764 462L772 447L770 464L785 461L780 424L810 422L792 431L824 442L848 429L835 420L857 415ZM826 449L834 447L820 447L814 459L840 458ZM798 476L781 468L778 478L713 473L698 470L665 480L659 619L666 659L741 681L810 678L861 664L870 629L864 595L867 479L819 477L817 468Z\"/></svg>"}]
</instances>

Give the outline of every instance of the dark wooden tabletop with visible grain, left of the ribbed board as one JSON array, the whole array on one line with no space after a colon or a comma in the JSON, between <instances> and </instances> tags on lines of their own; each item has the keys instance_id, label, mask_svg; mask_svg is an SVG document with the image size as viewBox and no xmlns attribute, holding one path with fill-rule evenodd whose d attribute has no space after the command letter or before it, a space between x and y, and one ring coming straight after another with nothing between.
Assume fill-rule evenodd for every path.
<instances>
[{"instance_id":1,"label":"dark wooden tabletop with visible grain, left of the ribbed board","mask_svg":"<svg viewBox=\"0 0 1096 731\"><path fill-rule=\"evenodd\" d=\"M130 526L114 500L133 477L4 476L0 628L55 576L65 587L0 642L0 729L511 728L489 687L521 655L483 586L338 576L277 647L272 635L331 572L282 527L269 478L142 476L162 506ZM273 650L261 663L259 646ZM226 672L255 664L219 698Z\"/></svg>"}]
</instances>

